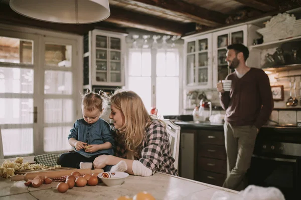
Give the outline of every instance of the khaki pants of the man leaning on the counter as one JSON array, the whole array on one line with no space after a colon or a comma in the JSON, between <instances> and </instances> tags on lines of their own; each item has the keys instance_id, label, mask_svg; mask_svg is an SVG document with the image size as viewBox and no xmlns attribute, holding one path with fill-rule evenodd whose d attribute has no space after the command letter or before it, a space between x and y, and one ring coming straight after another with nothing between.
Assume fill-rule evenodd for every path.
<instances>
[{"instance_id":1,"label":"khaki pants of the man leaning on the counter","mask_svg":"<svg viewBox=\"0 0 301 200\"><path fill-rule=\"evenodd\" d=\"M227 152L227 178L223 187L241 190L246 185L246 171L250 167L257 128L254 125L232 126L224 123Z\"/></svg>"}]
</instances>

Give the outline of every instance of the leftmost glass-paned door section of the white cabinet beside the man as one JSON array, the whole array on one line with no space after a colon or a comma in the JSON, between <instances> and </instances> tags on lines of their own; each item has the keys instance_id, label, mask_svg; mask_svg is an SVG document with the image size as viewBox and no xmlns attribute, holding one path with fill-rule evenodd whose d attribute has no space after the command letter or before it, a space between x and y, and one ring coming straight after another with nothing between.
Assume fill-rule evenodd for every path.
<instances>
[{"instance_id":1,"label":"leftmost glass-paned door section of the white cabinet beside the man","mask_svg":"<svg viewBox=\"0 0 301 200\"><path fill-rule=\"evenodd\" d=\"M185 40L186 86L189 88L211 87L211 35Z\"/></svg>"}]
</instances>

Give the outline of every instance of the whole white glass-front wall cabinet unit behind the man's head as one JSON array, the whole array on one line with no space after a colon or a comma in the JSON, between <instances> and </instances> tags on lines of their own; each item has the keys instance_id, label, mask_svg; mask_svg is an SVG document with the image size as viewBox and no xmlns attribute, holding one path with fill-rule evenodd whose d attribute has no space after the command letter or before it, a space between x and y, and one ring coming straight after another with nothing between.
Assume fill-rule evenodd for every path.
<instances>
[{"instance_id":1,"label":"whole white glass-front wall cabinet unit behind the man's head","mask_svg":"<svg viewBox=\"0 0 301 200\"><path fill-rule=\"evenodd\" d=\"M218 80L224 79L229 72L225 61L227 45L243 43L252 45L260 37L258 26L243 24L232 28L183 37L184 46L184 81L187 90L215 88ZM251 53L251 52L250 52ZM257 55L257 54L256 54ZM252 55L250 54L250 57ZM259 58L247 60L248 66Z\"/></svg>"}]
</instances>

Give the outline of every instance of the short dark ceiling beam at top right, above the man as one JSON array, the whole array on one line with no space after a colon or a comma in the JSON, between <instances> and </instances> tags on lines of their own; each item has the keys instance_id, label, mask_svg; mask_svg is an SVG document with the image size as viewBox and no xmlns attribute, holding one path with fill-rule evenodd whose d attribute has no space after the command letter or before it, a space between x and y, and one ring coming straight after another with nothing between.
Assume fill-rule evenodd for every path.
<instances>
[{"instance_id":1,"label":"short dark ceiling beam at top right, above the man","mask_svg":"<svg viewBox=\"0 0 301 200\"><path fill-rule=\"evenodd\" d=\"M271 10L278 9L278 4L276 0L235 0L235 1L261 11L271 11Z\"/></svg>"}]
</instances>

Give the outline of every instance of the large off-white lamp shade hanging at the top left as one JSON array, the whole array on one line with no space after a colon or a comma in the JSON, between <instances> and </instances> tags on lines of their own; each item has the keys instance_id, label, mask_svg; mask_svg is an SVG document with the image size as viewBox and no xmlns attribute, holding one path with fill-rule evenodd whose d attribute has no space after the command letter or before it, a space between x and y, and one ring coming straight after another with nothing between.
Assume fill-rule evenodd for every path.
<instances>
[{"instance_id":1,"label":"large off-white lamp shade hanging at the top left","mask_svg":"<svg viewBox=\"0 0 301 200\"><path fill-rule=\"evenodd\" d=\"M55 23L94 23L110 16L108 0L10 0L16 12Z\"/></svg>"}]
</instances>

